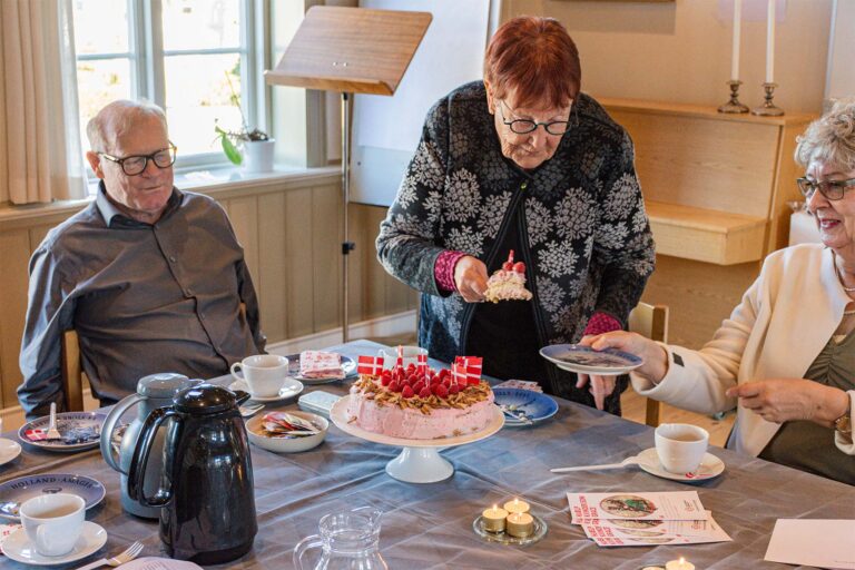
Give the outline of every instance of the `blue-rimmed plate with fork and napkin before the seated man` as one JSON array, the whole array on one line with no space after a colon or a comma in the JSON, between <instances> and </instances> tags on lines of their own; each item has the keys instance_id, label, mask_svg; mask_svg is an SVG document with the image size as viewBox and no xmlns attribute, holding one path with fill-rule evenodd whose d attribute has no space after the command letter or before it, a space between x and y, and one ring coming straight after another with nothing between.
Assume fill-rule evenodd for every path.
<instances>
[{"instance_id":1,"label":"blue-rimmed plate with fork and napkin before the seated man","mask_svg":"<svg viewBox=\"0 0 855 570\"><path fill-rule=\"evenodd\" d=\"M21 425L18 438L48 451L82 451L97 448L101 441L101 425L107 414L100 412L62 412L57 414L57 429L62 435L59 440L45 439L50 419L46 415Z\"/></svg>"}]
</instances>

